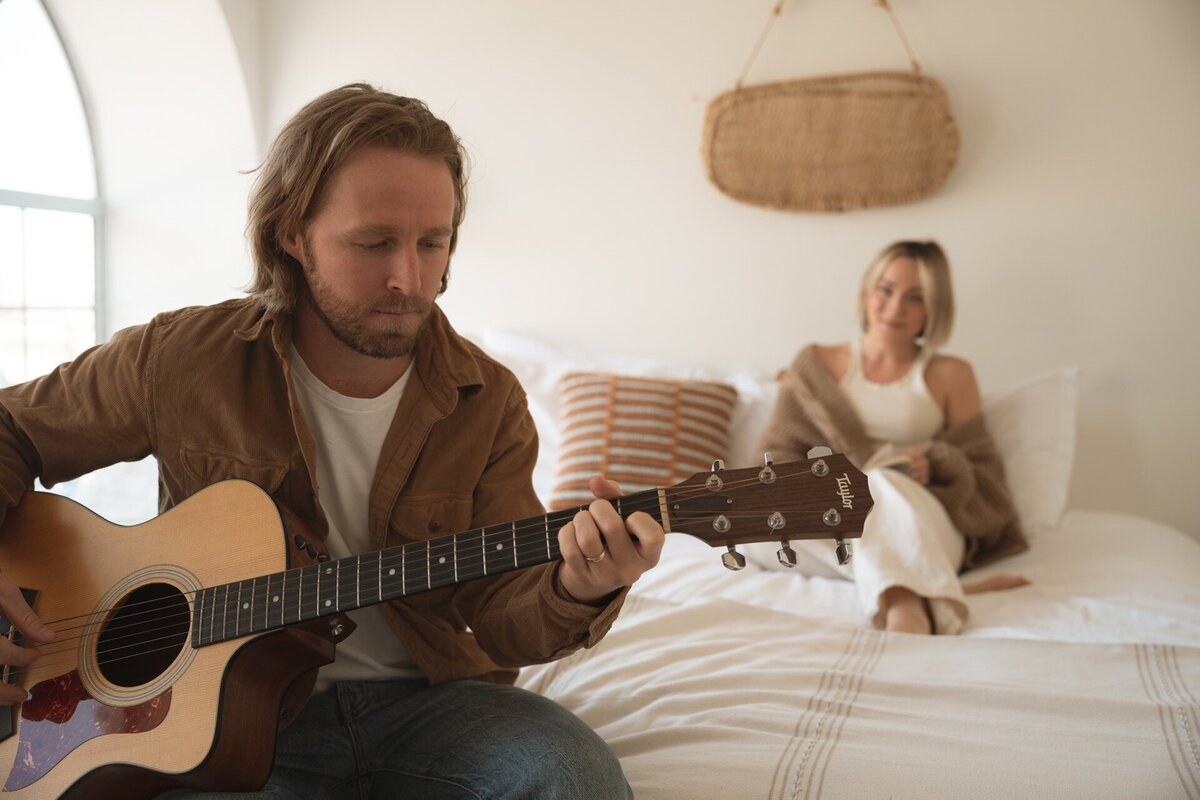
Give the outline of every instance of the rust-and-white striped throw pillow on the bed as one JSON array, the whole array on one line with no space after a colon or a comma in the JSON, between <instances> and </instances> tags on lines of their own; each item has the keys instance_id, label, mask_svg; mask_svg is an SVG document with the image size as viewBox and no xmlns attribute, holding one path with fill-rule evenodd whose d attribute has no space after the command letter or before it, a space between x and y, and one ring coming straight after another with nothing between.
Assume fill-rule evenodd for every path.
<instances>
[{"instance_id":1,"label":"rust-and-white striped throw pillow on the bed","mask_svg":"<svg viewBox=\"0 0 1200 800\"><path fill-rule=\"evenodd\" d=\"M558 391L551 511L590 503L588 479L596 474L631 493L671 486L727 457L738 398L727 384L576 372Z\"/></svg>"}]
</instances>

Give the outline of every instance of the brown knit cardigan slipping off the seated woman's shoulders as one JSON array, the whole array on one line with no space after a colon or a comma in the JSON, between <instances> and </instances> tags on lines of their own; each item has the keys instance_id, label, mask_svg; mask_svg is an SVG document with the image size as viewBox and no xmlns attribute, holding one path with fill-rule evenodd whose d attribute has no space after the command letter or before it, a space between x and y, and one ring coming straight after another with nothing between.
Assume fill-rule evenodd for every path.
<instances>
[{"instance_id":1,"label":"brown knit cardigan slipping off the seated woman's shoulders","mask_svg":"<svg viewBox=\"0 0 1200 800\"><path fill-rule=\"evenodd\" d=\"M804 458L824 445L862 468L884 443L868 438L841 387L809 345L780 373L779 398L762 438L775 461ZM1004 465L983 414L940 433L926 451L928 488L966 540L962 570L1028 548Z\"/></svg>"}]
</instances>

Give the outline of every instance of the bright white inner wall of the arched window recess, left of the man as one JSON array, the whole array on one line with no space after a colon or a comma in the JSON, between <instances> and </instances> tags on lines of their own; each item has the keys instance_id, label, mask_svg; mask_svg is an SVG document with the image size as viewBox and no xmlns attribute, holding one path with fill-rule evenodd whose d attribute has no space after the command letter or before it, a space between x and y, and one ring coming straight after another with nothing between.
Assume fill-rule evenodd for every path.
<instances>
[{"instance_id":1,"label":"bright white inner wall of the arched window recess, left of the man","mask_svg":"<svg viewBox=\"0 0 1200 800\"><path fill-rule=\"evenodd\" d=\"M238 52L214 0L48 0L90 110L106 201L109 332L248 278L257 164Z\"/></svg>"}]
</instances>

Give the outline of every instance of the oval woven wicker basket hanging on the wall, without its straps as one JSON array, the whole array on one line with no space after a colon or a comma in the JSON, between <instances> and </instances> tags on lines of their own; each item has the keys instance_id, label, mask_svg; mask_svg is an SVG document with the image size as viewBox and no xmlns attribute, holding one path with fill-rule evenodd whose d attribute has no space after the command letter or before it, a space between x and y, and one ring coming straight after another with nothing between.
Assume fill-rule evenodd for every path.
<instances>
[{"instance_id":1,"label":"oval woven wicker basket hanging on the wall, without its straps","mask_svg":"<svg viewBox=\"0 0 1200 800\"><path fill-rule=\"evenodd\" d=\"M704 121L709 180L738 200L793 211L919 200L958 151L946 90L917 71L743 86L713 100Z\"/></svg>"}]
</instances>

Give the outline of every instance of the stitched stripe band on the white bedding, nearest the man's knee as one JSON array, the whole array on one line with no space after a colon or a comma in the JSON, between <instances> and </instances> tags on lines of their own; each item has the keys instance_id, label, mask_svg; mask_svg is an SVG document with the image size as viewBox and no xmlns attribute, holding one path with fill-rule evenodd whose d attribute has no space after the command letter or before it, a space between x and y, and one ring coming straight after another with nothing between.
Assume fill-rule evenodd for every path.
<instances>
[{"instance_id":1,"label":"stitched stripe band on the white bedding, nearest the man's knee","mask_svg":"<svg viewBox=\"0 0 1200 800\"><path fill-rule=\"evenodd\" d=\"M876 631L856 630L838 662L822 673L817 691L796 723L770 782L770 800L816 800L824 774L841 739L842 728L858 699L863 680L880 657L887 639ZM814 792L814 786L816 787Z\"/></svg>"}]
</instances>

